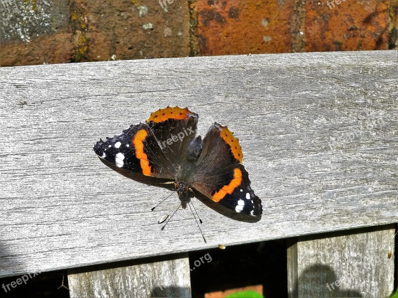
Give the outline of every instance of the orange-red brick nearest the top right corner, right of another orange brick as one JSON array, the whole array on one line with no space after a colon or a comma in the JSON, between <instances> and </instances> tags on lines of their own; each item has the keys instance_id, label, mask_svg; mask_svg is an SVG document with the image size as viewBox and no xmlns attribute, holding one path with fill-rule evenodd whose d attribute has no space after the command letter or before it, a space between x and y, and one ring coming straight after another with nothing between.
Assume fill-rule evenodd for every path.
<instances>
[{"instance_id":1,"label":"orange-red brick nearest the top right corner, right of another orange brick","mask_svg":"<svg viewBox=\"0 0 398 298\"><path fill-rule=\"evenodd\" d=\"M391 0L331 2L306 1L306 52L388 49Z\"/></svg>"}]
</instances>

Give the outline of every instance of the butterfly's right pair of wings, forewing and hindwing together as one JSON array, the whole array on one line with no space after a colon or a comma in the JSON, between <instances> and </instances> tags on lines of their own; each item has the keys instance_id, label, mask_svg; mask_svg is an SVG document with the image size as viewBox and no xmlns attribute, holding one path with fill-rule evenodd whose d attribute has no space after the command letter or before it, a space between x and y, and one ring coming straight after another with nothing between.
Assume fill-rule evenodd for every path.
<instances>
[{"instance_id":1,"label":"butterfly's right pair of wings, forewing and hindwing together","mask_svg":"<svg viewBox=\"0 0 398 298\"><path fill-rule=\"evenodd\" d=\"M259 216L261 200L250 187L239 140L228 128L214 123L203 140L192 186L200 193L238 213Z\"/></svg>"}]
</instances>

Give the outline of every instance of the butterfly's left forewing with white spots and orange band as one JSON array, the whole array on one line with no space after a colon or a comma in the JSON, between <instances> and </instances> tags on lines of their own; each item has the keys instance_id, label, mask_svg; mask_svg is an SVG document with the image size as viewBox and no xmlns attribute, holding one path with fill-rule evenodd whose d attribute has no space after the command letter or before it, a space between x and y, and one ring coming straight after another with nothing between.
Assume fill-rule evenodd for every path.
<instances>
[{"instance_id":1,"label":"butterfly's left forewing with white spots and orange band","mask_svg":"<svg viewBox=\"0 0 398 298\"><path fill-rule=\"evenodd\" d=\"M132 125L121 135L98 141L94 151L118 167L145 176L174 180L174 168L159 147L150 127Z\"/></svg>"}]
</instances>

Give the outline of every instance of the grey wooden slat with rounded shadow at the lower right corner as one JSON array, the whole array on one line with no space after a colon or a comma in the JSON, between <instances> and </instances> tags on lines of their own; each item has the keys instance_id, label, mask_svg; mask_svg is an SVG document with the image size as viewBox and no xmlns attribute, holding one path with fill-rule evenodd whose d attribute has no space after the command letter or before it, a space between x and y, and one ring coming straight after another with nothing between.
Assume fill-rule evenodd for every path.
<instances>
[{"instance_id":1,"label":"grey wooden slat with rounded shadow at the lower right corner","mask_svg":"<svg viewBox=\"0 0 398 298\"><path fill-rule=\"evenodd\" d=\"M390 224L298 237L288 248L289 297L388 297L394 290L394 258L388 256L394 233Z\"/></svg>"}]
</instances>

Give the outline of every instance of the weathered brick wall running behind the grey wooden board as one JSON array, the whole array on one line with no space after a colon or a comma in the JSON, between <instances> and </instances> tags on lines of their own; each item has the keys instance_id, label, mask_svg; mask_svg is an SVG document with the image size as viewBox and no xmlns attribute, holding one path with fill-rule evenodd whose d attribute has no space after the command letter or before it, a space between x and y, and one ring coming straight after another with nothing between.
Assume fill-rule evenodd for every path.
<instances>
[{"instance_id":1,"label":"weathered brick wall running behind the grey wooden board","mask_svg":"<svg viewBox=\"0 0 398 298\"><path fill-rule=\"evenodd\" d=\"M1 66L398 49L398 0L0 0Z\"/></svg>"}]
</instances>

